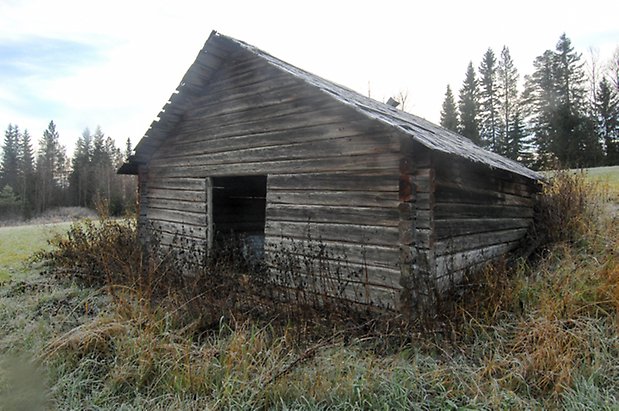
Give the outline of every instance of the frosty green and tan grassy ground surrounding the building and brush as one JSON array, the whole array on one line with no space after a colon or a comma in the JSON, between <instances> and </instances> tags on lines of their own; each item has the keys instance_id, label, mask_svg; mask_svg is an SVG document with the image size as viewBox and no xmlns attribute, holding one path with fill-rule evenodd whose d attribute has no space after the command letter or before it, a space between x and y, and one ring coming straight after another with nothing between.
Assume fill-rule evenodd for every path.
<instances>
[{"instance_id":1,"label":"frosty green and tan grassy ground surrounding the building and brush","mask_svg":"<svg viewBox=\"0 0 619 411\"><path fill-rule=\"evenodd\" d=\"M590 176L617 204L619 167ZM616 410L619 244L604 221L512 269L457 327L395 347L391 334L299 342L293 326L223 318L195 338L169 312L40 275L28 257L70 223L3 227L0 410Z\"/></svg>"}]
</instances>

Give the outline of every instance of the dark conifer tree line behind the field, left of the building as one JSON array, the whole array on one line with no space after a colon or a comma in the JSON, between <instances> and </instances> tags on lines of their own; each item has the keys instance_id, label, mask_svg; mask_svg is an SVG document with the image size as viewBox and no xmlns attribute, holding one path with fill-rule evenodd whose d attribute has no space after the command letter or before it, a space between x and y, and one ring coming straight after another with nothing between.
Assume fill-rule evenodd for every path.
<instances>
[{"instance_id":1,"label":"dark conifer tree line behind the field, left of the building","mask_svg":"<svg viewBox=\"0 0 619 411\"><path fill-rule=\"evenodd\" d=\"M97 127L94 134L84 130L69 157L51 121L35 152L28 130L9 124L0 163L0 218L28 219L62 206L107 204L112 215L133 209L135 181L116 174L131 150L130 139L121 150Z\"/></svg>"}]
</instances>

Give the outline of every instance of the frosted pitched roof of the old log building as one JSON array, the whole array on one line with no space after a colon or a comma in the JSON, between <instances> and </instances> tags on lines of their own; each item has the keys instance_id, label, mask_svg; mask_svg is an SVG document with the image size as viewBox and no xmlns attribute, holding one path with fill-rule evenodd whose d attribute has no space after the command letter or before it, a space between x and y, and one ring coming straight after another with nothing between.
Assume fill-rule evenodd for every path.
<instances>
[{"instance_id":1,"label":"frosted pitched roof of the old log building","mask_svg":"<svg viewBox=\"0 0 619 411\"><path fill-rule=\"evenodd\" d=\"M146 135L136 146L136 155L124 164L119 173L134 174L137 163L146 160L143 153L151 151L161 144L165 135L176 125L180 115L190 104L191 95L200 85L205 84L211 74L217 69L230 50L245 50L269 64L286 71L303 80L308 85L316 87L330 97L350 106L355 111L410 136L423 146L447 154L456 155L468 160L482 163L492 168L507 170L534 180L543 177L522 164L485 150L466 137L437 126L421 117L365 97L347 87L325 80L315 74L295 67L283 60L243 41L213 31L198 54L196 61L189 68L177 91L172 94L164 109L159 113Z\"/></svg>"}]
</instances>

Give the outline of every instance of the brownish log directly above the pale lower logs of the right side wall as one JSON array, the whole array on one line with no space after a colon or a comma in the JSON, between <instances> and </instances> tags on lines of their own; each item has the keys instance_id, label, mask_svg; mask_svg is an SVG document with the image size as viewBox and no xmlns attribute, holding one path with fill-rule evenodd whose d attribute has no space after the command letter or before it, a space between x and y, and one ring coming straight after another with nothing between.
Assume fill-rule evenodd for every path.
<instances>
[{"instance_id":1,"label":"brownish log directly above the pale lower logs of the right side wall","mask_svg":"<svg viewBox=\"0 0 619 411\"><path fill-rule=\"evenodd\" d=\"M529 218L435 219L434 227L436 238L442 240L465 234L527 228L531 221Z\"/></svg>"}]
</instances>

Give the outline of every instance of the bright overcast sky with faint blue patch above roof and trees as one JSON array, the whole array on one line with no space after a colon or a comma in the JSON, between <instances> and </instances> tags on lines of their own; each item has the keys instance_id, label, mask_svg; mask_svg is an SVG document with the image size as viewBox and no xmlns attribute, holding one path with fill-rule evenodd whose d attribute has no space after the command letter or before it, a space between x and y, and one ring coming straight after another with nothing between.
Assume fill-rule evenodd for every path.
<instances>
[{"instance_id":1,"label":"bright overcast sky with faint blue patch above roof and trees","mask_svg":"<svg viewBox=\"0 0 619 411\"><path fill-rule=\"evenodd\" d=\"M405 91L438 122L446 85L457 92L488 47L507 45L523 76L565 32L605 62L617 16L610 0L0 0L0 126L38 140L53 119L72 148L100 125L135 144L211 30L378 100Z\"/></svg>"}]
</instances>

